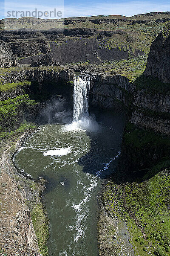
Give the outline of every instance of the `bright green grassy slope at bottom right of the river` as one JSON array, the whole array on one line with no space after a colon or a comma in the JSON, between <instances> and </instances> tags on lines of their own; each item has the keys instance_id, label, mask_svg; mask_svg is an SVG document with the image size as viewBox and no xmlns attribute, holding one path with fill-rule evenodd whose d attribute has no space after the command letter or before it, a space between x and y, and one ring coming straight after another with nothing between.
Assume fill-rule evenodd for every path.
<instances>
[{"instance_id":1,"label":"bright green grassy slope at bottom right of the river","mask_svg":"<svg viewBox=\"0 0 170 256\"><path fill-rule=\"evenodd\" d=\"M148 180L123 185L109 181L103 192L107 212L126 221L136 256L146 256L148 252L157 255L159 250L169 256L169 174L164 170Z\"/></svg>"}]
</instances>

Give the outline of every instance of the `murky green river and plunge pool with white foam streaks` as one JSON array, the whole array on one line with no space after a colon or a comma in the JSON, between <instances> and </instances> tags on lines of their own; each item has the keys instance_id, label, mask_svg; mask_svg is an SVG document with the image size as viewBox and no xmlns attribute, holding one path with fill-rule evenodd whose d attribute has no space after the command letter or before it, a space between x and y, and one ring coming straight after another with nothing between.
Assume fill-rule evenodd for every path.
<instances>
[{"instance_id":1,"label":"murky green river and plunge pool with white foam streaks","mask_svg":"<svg viewBox=\"0 0 170 256\"><path fill-rule=\"evenodd\" d=\"M97 194L120 152L122 118L98 113L97 122L48 124L26 138L14 156L21 172L44 177L50 256L98 256Z\"/></svg>"}]
</instances>

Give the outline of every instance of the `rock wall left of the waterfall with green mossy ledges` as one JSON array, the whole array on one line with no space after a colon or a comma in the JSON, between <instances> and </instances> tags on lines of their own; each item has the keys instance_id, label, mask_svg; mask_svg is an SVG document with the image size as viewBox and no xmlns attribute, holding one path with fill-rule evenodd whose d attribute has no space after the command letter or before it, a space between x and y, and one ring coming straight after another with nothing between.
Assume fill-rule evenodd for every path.
<instances>
[{"instance_id":1,"label":"rock wall left of the waterfall with green mossy ledges","mask_svg":"<svg viewBox=\"0 0 170 256\"><path fill-rule=\"evenodd\" d=\"M63 67L18 67L2 72L1 83L9 83L9 89L0 90L0 132L14 131L23 120L36 122L54 95L62 95L72 106L73 79L74 71Z\"/></svg>"}]
</instances>

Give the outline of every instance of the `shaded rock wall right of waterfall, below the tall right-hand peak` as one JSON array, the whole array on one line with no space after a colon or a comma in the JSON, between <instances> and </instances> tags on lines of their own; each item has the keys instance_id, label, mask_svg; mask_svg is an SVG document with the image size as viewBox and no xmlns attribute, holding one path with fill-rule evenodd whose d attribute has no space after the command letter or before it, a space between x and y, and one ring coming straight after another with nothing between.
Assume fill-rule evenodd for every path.
<instances>
[{"instance_id":1,"label":"shaded rock wall right of waterfall, below the tall right-hand peak","mask_svg":"<svg viewBox=\"0 0 170 256\"><path fill-rule=\"evenodd\" d=\"M149 168L169 157L170 90L157 80L139 77L131 83L120 75L91 75L90 105L128 109L120 163L128 171Z\"/></svg>"}]
</instances>

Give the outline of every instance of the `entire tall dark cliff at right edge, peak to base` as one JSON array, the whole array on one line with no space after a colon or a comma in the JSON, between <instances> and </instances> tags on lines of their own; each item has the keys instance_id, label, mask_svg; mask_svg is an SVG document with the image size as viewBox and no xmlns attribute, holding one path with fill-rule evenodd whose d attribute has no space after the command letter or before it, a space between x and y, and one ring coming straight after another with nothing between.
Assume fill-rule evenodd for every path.
<instances>
[{"instance_id":1,"label":"entire tall dark cliff at right edge, peak to base","mask_svg":"<svg viewBox=\"0 0 170 256\"><path fill-rule=\"evenodd\" d=\"M170 158L169 62L170 23L153 41L144 74L134 82L122 141L122 163L130 171L147 169Z\"/></svg>"}]
</instances>

